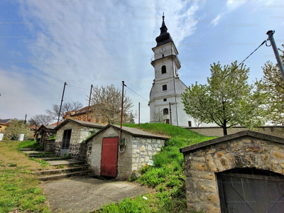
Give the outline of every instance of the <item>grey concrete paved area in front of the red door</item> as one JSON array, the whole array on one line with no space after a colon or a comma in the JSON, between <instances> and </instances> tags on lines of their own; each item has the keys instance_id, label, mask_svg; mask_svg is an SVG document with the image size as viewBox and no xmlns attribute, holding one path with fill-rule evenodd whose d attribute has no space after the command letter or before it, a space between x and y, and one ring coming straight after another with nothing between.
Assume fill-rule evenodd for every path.
<instances>
[{"instance_id":1,"label":"grey concrete paved area in front of the red door","mask_svg":"<svg viewBox=\"0 0 284 213\"><path fill-rule=\"evenodd\" d=\"M106 204L151 192L132 182L77 177L42 184L51 212L92 212Z\"/></svg>"}]
</instances>

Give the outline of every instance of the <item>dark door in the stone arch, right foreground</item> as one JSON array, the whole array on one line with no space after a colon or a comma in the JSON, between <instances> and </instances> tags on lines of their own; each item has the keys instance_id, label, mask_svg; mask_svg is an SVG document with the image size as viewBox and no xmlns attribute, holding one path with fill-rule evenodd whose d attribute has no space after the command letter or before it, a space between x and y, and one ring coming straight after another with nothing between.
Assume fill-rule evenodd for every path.
<instances>
[{"instance_id":1,"label":"dark door in the stone arch, right foreground","mask_svg":"<svg viewBox=\"0 0 284 213\"><path fill-rule=\"evenodd\" d=\"M222 213L284 212L282 177L219 173L217 180Z\"/></svg>"}]
</instances>

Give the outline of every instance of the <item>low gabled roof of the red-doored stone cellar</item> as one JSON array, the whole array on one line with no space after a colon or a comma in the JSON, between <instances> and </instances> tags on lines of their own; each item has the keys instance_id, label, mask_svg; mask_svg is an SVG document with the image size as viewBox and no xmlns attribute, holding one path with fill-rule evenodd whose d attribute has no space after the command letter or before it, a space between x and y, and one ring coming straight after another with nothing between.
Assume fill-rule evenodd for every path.
<instances>
[{"instance_id":1,"label":"low gabled roof of the red-doored stone cellar","mask_svg":"<svg viewBox=\"0 0 284 213\"><path fill-rule=\"evenodd\" d=\"M145 138L160 138L160 139L168 139L168 138L170 138L168 136L159 136L159 135L155 135L153 133L148 133L147 131L143 131L141 129L126 127L126 126L122 126L122 128L120 128L120 126L113 125L113 124L108 124L107 126L104 127L104 129L101 129L100 131L95 133L93 136L88 138L87 141L89 141L90 139L94 138L94 136L97 136L99 133L101 133L102 131L104 131L104 130L110 128L110 127L113 127L114 129L118 129L119 131L124 131L126 133L129 133L132 136L145 137Z\"/></svg>"}]
</instances>

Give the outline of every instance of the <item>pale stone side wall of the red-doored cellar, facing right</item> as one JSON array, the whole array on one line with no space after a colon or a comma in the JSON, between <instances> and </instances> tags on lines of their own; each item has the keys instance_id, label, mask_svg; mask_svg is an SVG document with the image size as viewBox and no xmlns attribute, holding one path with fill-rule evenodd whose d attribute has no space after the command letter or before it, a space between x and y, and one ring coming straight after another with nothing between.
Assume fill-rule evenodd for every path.
<instances>
[{"instance_id":1,"label":"pale stone side wall of the red-doored cellar, facing right","mask_svg":"<svg viewBox=\"0 0 284 213\"><path fill-rule=\"evenodd\" d=\"M133 137L132 172L137 171L165 146L165 140Z\"/></svg>"}]
</instances>

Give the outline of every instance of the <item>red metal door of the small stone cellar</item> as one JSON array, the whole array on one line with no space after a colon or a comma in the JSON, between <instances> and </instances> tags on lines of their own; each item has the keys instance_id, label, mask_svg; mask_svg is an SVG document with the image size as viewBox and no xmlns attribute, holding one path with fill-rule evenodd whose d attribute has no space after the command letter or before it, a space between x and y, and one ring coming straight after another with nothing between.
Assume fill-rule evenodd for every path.
<instances>
[{"instance_id":1,"label":"red metal door of the small stone cellar","mask_svg":"<svg viewBox=\"0 0 284 213\"><path fill-rule=\"evenodd\" d=\"M101 175L116 178L119 138L104 138L102 141Z\"/></svg>"}]
</instances>

